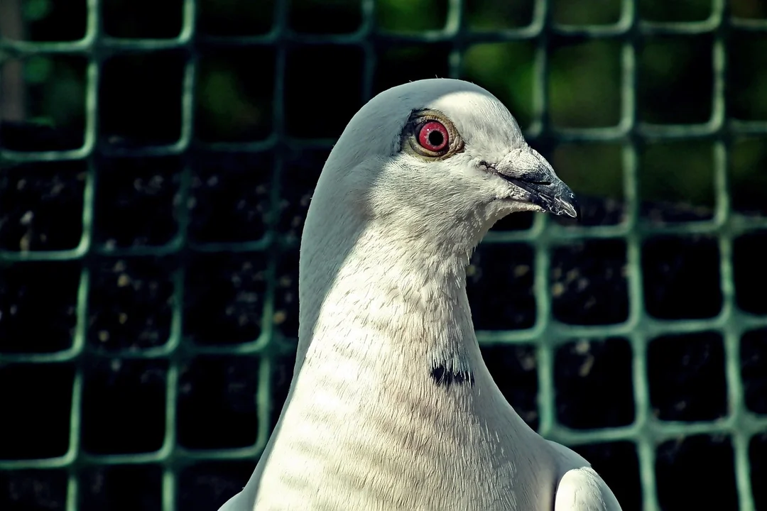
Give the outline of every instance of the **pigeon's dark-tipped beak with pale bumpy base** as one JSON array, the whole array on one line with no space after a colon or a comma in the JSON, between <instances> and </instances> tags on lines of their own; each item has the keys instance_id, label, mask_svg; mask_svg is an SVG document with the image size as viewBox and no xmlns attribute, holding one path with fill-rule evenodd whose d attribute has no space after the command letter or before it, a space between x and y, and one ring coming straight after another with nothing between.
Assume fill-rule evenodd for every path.
<instances>
[{"instance_id":1,"label":"pigeon's dark-tipped beak with pale bumpy base","mask_svg":"<svg viewBox=\"0 0 767 511\"><path fill-rule=\"evenodd\" d=\"M512 165L512 161L517 164ZM581 216L575 194L557 177L543 156L530 149L530 153L522 158L522 162L525 164L522 165L524 168L518 165L518 158L505 158L498 165L493 165L492 169L501 178L525 190L528 193L528 201L545 211L571 218Z\"/></svg>"}]
</instances>

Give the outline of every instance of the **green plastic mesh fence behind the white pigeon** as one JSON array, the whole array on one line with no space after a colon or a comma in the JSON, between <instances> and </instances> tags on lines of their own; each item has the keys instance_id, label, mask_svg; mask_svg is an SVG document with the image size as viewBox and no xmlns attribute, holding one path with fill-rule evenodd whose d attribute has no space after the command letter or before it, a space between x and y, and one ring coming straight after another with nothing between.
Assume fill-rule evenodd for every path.
<instances>
[{"instance_id":1,"label":"green plastic mesh fence behind the white pigeon","mask_svg":"<svg viewBox=\"0 0 767 511\"><path fill-rule=\"evenodd\" d=\"M31 237L21 236L18 246L3 241L5 249L0 251L4 289L0 306L6 316L0 336L10 335L12 327L7 322L25 313L25 318L15 320L27 328L29 336L45 338L33 340L22 335L23 339L11 341L7 337L0 345L0 406L4 429L8 428L2 435L5 439L0 453L0 474L5 484L5 500L0 504L5 502L7 509L211 509L242 486L285 398L295 349L295 293L291 290L295 290L301 208L305 210L312 179L316 179L324 155L332 146L331 135L337 133L337 129L331 129L328 136L302 137L286 129L286 119L295 118L295 110L306 109L308 103L291 104L285 91L305 87L311 99L312 86L311 81L299 86L289 83L298 75L288 64L288 53L318 45L325 49L351 48L356 53L348 65L362 76L361 97L354 99L359 106L384 88L386 70L397 66L397 54L386 61L381 57L382 47L424 44L442 48L444 74L466 77L466 54L474 45L520 42L530 48L526 68L532 88L527 92L529 97L520 93L532 105L522 114L528 117L528 139L533 146L544 149L570 144L576 151L579 144L586 142L613 144L614 163L622 172L619 188L624 201L617 221L572 226L555 224L545 215L520 215L489 234L469 268L469 291L480 344L491 371L525 420L545 437L574 446L593 461L614 486L624 509L686 509L685 503L707 503L709 499L725 503L725 509L729 509L728 505L742 511L767 509L767 493L762 489L767 484L767 404L763 398L767 391L767 307L763 298L767 278L759 269L760 257L753 256L767 247L767 219L736 212L731 172L733 147L748 137L757 137L762 144L767 142L759 139L767 136L767 121L738 120L732 115L733 108L737 108L732 106L732 96L741 91L727 79L730 62L738 58L731 51L732 41L767 34L767 20L738 18L724 0L713 0L701 21L651 22L640 19L637 2L624 0L614 22L562 25L552 16L553 5L546 0L531 3L532 21L519 28L479 31L466 22L466 2L449 0L444 28L400 34L377 30L376 15L386 12L377 8L374 0L362 0L357 31L312 34L288 28L288 2L265 2L264 9L274 11L271 28L261 35L225 38L200 34L198 27L204 18L199 13L200 5L196 0L183 0L179 2L183 16L177 37L143 39L107 35L102 13L105 2L87 0L84 38L64 42L0 39L6 70L14 59L34 64L35 57L40 56L72 57L81 59L85 76L81 143L71 149L9 149L6 133L0 146L5 180L0 201L6 203L2 208L11 208L8 204L14 201L45 201L45 194L57 187L57 193L61 193L61 174L46 174L46 165L64 165L61 172L76 176L74 185L67 185L74 187L71 200L55 213L60 215L57 221L63 227L58 234L48 234L49 238L58 235L74 239L71 247L46 249L46 243L53 242L33 233ZM146 16L150 15L151 11L147 11ZM710 90L710 116L701 122L650 123L638 113L640 55L656 39L670 36L708 38L710 83L700 87L706 94ZM558 126L551 115L551 55L563 45L589 41L614 44L619 63L619 88L614 97L619 119L611 127ZM199 97L206 91L200 90L196 77L206 72L202 69L206 65L205 51L217 51L224 57L253 51L248 54L251 72L256 75L252 87L268 83L265 87L273 91L271 103L262 110L268 116L262 123L264 129L228 142L199 140L196 116L202 115ZM104 113L101 104L109 93L104 80L110 72L110 60L162 52L176 52L180 63L180 97L178 105L173 106L179 118L178 136L163 143L129 143L105 134L113 123L109 113L114 112L110 106ZM328 73L339 65L323 62ZM673 70L667 73L673 75ZM163 87L147 80L147 91ZM318 76L317 80L328 77ZM345 87L342 82L338 80L337 87ZM690 90L690 94L698 92ZM114 98L110 101L119 103ZM339 114L343 123L356 107L347 110ZM237 112L231 114L232 123L236 123ZM314 123L314 127L322 124L311 119L306 122ZM153 118L146 118L147 131L152 131L153 123ZM315 131L322 133L322 129ZM640 201L644 148L655 142L680 140L707 144L711 151L713 211L693 221L650 221L641 211ZM567 160L578 155L565 153L560 157ZM140 165L136 163L139 161ZM206 169L222 165L245 169L255 178L243 178L245 174L235 172L234 178L219 183L219 178ZM680 163L680 167L683 165ZM100 182L107 182L108 176L120 172L135 175L134 171L140 174L146 167L170 169L171 184L153 182L146 176L143 181L129 179L123 185L141 189L143 195L140 201L127 206L124 195L100 188ZM674 165L663 169L674 172ZM48 184L35 185L35 175L48 176ZM563 177L571 184L576 179L573 188L578 192L578 177L567 172ZM216 211L209 211L209 224L193 228L194 211L212 208L200 190L210 188L215 192L218 186L248 188L247 192L242 190L238 200L258 204L256 209L263 219L237 217L237 211L244 206L235 202L229 218L255 224L246 234L233 231L225 217L216 216ZM307 189L295 192L294 188L301 186ZM163 218L144 219L139 227L131 227L131 218L139 218L141 209L145 205L153 207L156 201L165 201L166 213L173 216L175 227L167 227ZM121 219L119 215L127 216ZM21 215L18 223L24 227L31 221L29 215ZM74 234L67 231L67 221ZM100 236L99 225L103 231L133 229L146 239L126 244L119 236ZM158 230L165 234L157 234ZM216 231L231 235L219 237L225 241L216 241ZM162 242L153 242L157 239ZM703 261L695 270L700 274L693 279L701 288L687 290L688 294L672 301L695 302L699 294L713 293L716 299L709 313L670 317L663 313L662 300L653 299L658 282L673 277L674 272L685 271L683 266L689 263L689 257L681 266L674 266L673 261L663 263L664 254L677 249L692 254L692 260ZM660 260L661 270L648 270L648 260ZM570 317L573 314L568 313L568 303L561 300L563 293L580 285L578 272L589 264L600 267L600 271L623 273L624 283L618 287L608 285L605 291L607 300L614 300L612 305L618 310L614 321L584 319L582 310L581 316ZM216 280L221 275L229 279L229 287L222 287L221 279ZM510 312L498 308L483 297L481 288L484 277L492 280L496 275L526 286L532 294L510 297L516 307ZM610 290L617 290L621 296L611 298ZM750 295L746 293L749 290ZM51 317L52 310L69 303L64 296L67 293L74 301L68 309L64 306L64 319ZM133 296L133 308L120 308L125 293ZM754 297L741 297L746 295ZM574 296L575 300L588 300L578 293ZM24 308L25 300L35 303L38 309L30 313ZM225 300L235 303L222 313L229 319L209 324L206 310L221 308ZM102 311L100 316L94 316L94 310ZM514 328L498 323L499 316L515 310L532 312ZM614 312L609 307L597 310ZM157 323L155 330L160 333L141 337L138 330L130 330L134 314L143 315L145 323ZM100 327L99 322L107 321L107 316L114 324L127 325L120 335L135 339L117 347L111 345L110 335L120 331ZM57 321L64 322L63 330L56 329ZM292 327L284 327L291 322ZM67 340L58 344L51 340L62 331ZM18 329L14 332L18 334ZM38 347L31 349L35 343ZM684 346L689 349L685 351ZM704 354L697 349L703 349ZM653 350L659 354L653 355ZM504 353L513 353L516 365L499 365ZM565 360L568 356L570 362ZM710 364L716 366L716 360L721 367L712 369ZM600 370L611 376L588 385L578 384L578 372L585 377L587 366L594 363L601 364ZM672 406L683 401L674 401L674 389L680 388L674 386L678 383L674 381L675 372L693 381L696 376L703 380L719 378L719 394L691 399L703 402L703 408L720 402L721 411L703 413L703 418L686 417L679 409L677 415L664 412L664 402ZM130 396L99 394L100 386L113 388L110 385L114 386L116 378L127 379L141 390ZM222 395L205 388L206 378L228 385L228 395L234 395L235 403L229 404L234 411L220 414L221 408L216 407ZM653 378L659 382L657 385ZM744 388L746 380L755 389L752 395ZM617 381L630 390L611 397L611 392L617 392ZM35 391L38 385L40 390ZM527 388L526 397L515 395L515 386ZM690 391L689 387L683 388ZM561 401L568 399L568 392L588 413L614 412L620 417L607 420L607 425L590 421L586 412L576 418L563 418ZM591 398L572 397L578 392L590 393ZM123 400L127 410L120 408ZM107 415L115 418L104 418ZM195 433L185 433L181 427L183 423L204 423L221 417L241 425L229 424L231 431L201 427ZM132 430L120 429L121 422L139 429L142 438L150 440L109 440L108 431L102 430L131 436ZM33 426L42 428L36 434L39 441L18 445L14 435ZM248 428L250 432L243 432ZM225 440L216 440L221 437ZM117 444L120 447L113 448ZM612 447L599 450L601 445ZM687 462L675 464L674 460L684 456L688 456ZM667 462L667 458L672 461ZM709 460L714 460L716 467L709 467ZM675 479L683 477L676 472L690 470L703 470L700 473L708 475L698 483L687 479L679 483ZM105 498L104 486L112 495L109 505L99 500ZM696 490L706 495L690 496ZM723 492L729 493L722 497ZM36 494L34 499L28 497L32 493ZM125 500L121 501L122 496ZM31 502L25 499L34 500L35 505L25 504ZM2 505L0 508L6 509Z\"/></svg>"}]
</instances>

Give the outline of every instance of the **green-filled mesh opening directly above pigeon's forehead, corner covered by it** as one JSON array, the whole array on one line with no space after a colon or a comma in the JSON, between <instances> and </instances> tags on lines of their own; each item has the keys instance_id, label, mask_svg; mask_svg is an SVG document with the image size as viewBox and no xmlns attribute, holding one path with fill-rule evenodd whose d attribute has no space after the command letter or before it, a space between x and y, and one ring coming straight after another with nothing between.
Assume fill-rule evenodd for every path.
<instances>
[{"instance_id":1,"label":"green-filled mesh opening directly above pigeon's forehead, corner covered by it","mask_svg":"<svg viewBox=\"0 0 767 511\"><path fill-rule=\"evenodd\" d=\"M532 41L472 44L461 61L461 79L484 87L497 97L522 129L532 124L537 113L533 111L533 87L543 87L533 84L534 76Z\"/></svg>"}]
</instances>

